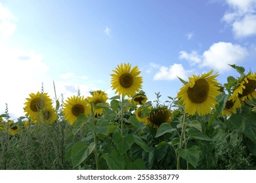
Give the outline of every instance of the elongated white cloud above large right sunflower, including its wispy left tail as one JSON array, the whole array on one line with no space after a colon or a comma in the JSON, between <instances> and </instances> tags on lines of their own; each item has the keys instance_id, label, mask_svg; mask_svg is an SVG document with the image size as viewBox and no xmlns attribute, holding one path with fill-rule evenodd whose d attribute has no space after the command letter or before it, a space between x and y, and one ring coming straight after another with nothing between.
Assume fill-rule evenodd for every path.
<instances>
[{"instance_id":1,"label":"elongated white cloud above large right sunflower, including its wispy left tail","mask_svg":"<svg viewBox=\"0 0 256 183\"><path fill-rule=\"evenodd\" d=\"M200 67L211 67L218 71L226 71L231 68L228 67L228 64L241 63L247 56L247 49L238 44L217 42L212 44L202 55L195 51L191 54L181 51L179 58L190 61L192 65L198 64Z\"/></svg>"}]
</instances>

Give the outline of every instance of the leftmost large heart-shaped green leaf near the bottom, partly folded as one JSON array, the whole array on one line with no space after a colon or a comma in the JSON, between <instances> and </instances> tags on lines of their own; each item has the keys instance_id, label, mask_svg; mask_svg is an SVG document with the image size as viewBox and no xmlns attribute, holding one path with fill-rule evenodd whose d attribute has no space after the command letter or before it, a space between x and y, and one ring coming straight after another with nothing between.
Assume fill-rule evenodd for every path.
<instances>
[{"instance_id":1,"label":"leftmost large heart-shaped green leaf near the bottom, partly folded","mask_svg":"<svg viewBox=\"0 0 256 183\"><path fill-rule=\"evenodd\" d=\"M95 142L91 142L91 144L87 147L85 146L85 143L82 141L78 141L74 144L72 148L72 165L73 168L77 167L83 161L85 161L86 158L93 152L95 148Z\"/></svg>"}]
</instances>

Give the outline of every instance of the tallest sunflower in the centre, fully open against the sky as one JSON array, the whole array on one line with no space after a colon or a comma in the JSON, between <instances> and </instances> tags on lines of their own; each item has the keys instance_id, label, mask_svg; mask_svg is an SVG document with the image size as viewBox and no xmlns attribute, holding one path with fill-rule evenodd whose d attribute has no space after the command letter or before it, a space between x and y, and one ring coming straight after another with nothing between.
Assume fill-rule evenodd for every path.
<instances>
[{"instance_id":1,"label":"tallest sunflower in the centre, fully open against the sky","mask_svg":"<svg viewBox=\"0 0 256 183\"><path fill-rule=\"evenodd\" d=\"M140 71L137 66L131 69L130 63L121 63L113 72L111 84L118 95L131 97L142 88L142 77L139 76Z\"/></svg>"}]
</instances>

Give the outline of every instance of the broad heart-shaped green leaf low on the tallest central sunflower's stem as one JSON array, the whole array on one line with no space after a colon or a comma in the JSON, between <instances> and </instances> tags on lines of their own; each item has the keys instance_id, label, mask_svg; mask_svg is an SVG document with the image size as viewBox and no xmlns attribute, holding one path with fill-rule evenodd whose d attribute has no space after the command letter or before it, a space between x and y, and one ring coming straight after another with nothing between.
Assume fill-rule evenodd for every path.
<instances>
[{"instance_id":1,"label":"broad heart-shaped green leaf low on the tallest central sunflower's stem","mask_svg":"<svg viewBox=\"0 0 256 183\"><path fill-rule=\"evenodd\" d=\"M127 150L131 148L131 145L134 142L133 135L128 134L125 136L121 136L120 133L114 133L113 135L114 144L116 144L117 150L121 155L125 154Z\"/></svg>"}]
</instances>

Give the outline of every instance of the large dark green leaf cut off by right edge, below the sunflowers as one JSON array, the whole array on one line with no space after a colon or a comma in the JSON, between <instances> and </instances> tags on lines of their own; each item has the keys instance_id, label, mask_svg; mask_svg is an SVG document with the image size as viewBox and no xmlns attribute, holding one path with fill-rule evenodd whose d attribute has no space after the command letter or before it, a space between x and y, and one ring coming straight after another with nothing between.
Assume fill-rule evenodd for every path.
<instances>
[{"instance_id":1,"label":"large dark green leaf cut off by right edge, below the sunflowers","mask_svg":"<svg viewBox=\"0 0 256 183\"><path fill-rule=\"evenodd\" d=\"M256 113L249 115L233 114L230 116L230 123L241 130L251 141L256 144Z\"/></svg>"}]
</instances>

